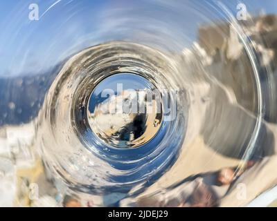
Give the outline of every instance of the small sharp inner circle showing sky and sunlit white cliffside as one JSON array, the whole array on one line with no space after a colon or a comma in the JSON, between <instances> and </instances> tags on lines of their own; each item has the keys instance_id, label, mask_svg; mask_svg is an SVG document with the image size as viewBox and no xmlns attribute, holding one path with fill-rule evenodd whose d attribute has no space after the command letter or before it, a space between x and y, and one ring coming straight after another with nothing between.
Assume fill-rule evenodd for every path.
<instances>
[{"instance_id":1,"label":"small sharp inner circle showing sky and sunlit white cliffside","mask_svg":"<svg viewBox=\"0 0 277 221\"><path fill-rule=\"evenodd\" d=\"M132 73L103 79L91 94L87 115L93 133L118 148L135 148L151 140L162 116L159 90Z\"/></svg>"}]
</instances>

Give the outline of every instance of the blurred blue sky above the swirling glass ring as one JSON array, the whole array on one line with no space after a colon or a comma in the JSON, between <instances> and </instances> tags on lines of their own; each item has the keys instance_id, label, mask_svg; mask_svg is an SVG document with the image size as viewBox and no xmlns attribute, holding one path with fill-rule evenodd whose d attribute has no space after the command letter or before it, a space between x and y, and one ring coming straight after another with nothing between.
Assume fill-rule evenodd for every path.
<instances>
[{"instance_id":1,"label":"blurred blue sky above the swirling glass ring","mask_svg":"<svg viewBox=\"0 0 277 221\"><path fill-rule=\"evenodd\" d=\"M239 1L222 2L235 15ZM277 12L274 0L242 2L249 12ZM30 3L38 4L39 16L46 12L39 21L28 19ZM1 1L0 77L44 73L75 52L104 41L151 45L164 35L180 48L189 46L199 24L220 19L206 10L209 3L213 1Z\"/></svg>"}]
</instances>

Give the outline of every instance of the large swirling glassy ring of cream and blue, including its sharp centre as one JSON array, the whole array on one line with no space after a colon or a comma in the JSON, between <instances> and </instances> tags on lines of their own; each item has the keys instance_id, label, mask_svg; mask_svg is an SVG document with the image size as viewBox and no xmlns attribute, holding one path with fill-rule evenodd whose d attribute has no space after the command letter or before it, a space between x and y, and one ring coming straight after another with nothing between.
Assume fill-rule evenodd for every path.
<instances>
[{"instance_id":1,"label":"large swirling glassy ring of cream and blue, including its sharp centre","mask_svg":"<svg viewBox=\"0 0 277 221\"><path fill-rule=\"evenodd\" d=\"M49 169L70 188L96 195L137 194L166 173L188 117L185 90L169 77L179 75L170 61L159 50L126 42L71 57L39 122Z\"/></svg>"}]
</instances>

